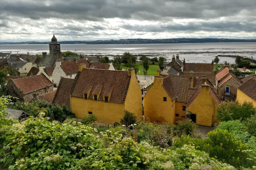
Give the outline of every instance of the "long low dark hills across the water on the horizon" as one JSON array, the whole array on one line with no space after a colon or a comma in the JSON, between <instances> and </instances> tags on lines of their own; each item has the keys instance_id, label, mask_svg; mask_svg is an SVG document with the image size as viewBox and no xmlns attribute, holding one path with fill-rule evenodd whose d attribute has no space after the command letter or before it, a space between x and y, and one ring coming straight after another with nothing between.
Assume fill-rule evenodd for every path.
<instances>
[{"instance_id":1,"label":"long low dark hills across the water on the horizon","mask_svg":"<svg viewBox=\"0 0 256 170\"><path fill-rule=\"evenodd\" d=\"M177 38L177 39L121 39L97 41L61 41L60 44L160 44L160 43L206 43L206 42L256 42L256 39ZM0 42L0 44L48 44L49 42Z\"/></svg>"}]
</instances>

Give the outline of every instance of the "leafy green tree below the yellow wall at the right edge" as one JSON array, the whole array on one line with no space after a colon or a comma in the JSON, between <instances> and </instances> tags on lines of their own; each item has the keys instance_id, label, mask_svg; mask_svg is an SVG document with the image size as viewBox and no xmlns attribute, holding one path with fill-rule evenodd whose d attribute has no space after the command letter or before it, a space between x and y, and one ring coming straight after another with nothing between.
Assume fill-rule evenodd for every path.
<instances>
[{"instance_id":1,"label":"leafy green tree below the yellow wall at the right edge","mask_svg":"<svg viewBox=\"0 0 256 170\"><path fill-rule=\"evenodd\" d=\"M243 104L239 104L238 101L236 101L222 102L217 108L216 116L220 121L244 121L255 114L256 109L253 107L252 103L244 102Z\"/></svg>"}]
</instances>

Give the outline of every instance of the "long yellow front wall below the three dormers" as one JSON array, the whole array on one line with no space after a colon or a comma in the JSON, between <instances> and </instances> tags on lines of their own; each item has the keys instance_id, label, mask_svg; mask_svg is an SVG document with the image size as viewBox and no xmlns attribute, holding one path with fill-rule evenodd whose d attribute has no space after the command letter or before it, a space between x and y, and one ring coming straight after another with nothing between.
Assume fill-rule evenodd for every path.
<instances>
[{"instance_id":1,"label":"long yellow front wall below the three dormers","mask_svg":"<svg viewBox=\"0 0 256 170\"><path fill-rule=\"evenodd\" d=\"M107 124L120 122L124 117L124 104L71 97L70 106L75 116L80 119L88 112L97 115L97 122Z\"/></svg>"}]
</instances>

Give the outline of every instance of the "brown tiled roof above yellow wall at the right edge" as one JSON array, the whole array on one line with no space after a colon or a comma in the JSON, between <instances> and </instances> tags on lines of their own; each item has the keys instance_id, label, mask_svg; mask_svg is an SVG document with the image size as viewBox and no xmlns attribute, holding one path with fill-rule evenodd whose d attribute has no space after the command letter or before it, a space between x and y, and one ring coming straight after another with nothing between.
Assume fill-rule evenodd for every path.
<instances>
[{"instance_id":1,"label":"brown tiled roof above yellow wall at the right edge","mask_svg":"<svg viewBox=\"0 0 256 170\"><path fill-rule=\"evenodd\" d=\"M256 101L256 79L250 78L248 81L238 87L244 94Z\"/></svg>"}]
</instances>

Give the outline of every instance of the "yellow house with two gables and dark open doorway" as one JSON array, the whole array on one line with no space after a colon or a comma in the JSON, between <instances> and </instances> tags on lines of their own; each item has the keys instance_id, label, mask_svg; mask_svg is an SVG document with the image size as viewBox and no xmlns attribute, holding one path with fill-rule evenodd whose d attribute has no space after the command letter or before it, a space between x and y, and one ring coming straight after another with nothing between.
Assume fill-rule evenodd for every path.
<instances>
[{"instance_id":1,"label":"yellow house with two gables and dark open doorway","mask_svg":"<svg viewBox=\"0 0 256 170\"><path fill-rule=\"evenodd\" d=\"M150 122L175 124L188 117L197 125L212 126L219 122L215 112L220 103L206 76L196 78L193 71L188 76L160 75L159 70L144 97L144 114Z\"/></svg>"}]
</instances>

